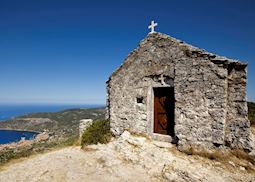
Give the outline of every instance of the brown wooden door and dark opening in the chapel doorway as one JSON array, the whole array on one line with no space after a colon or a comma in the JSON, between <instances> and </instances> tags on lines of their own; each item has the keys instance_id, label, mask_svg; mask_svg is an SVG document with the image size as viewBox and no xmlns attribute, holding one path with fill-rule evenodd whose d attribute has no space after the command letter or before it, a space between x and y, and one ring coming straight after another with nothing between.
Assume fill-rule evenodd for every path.
<instances>
[{"instance_id":1,"label":"brown wooden door and dark opening in the chapel doorway","mask_svg":"<svg viewBox=\"0 0 255 182\"><path fill-rule=\"evenodd\" d=\"M174 89L154 88L154 133L174 136Z\"/></svg>"}]
</instances>

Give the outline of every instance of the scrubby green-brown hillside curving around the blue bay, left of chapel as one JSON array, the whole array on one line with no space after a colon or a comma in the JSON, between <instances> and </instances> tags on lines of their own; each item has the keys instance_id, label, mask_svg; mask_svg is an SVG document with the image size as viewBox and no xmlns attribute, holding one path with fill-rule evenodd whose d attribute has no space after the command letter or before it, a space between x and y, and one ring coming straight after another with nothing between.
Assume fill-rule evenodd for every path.
<instances>
[{"instance_id":1,"label":"scrubby green-brown hillside curving around the blue bay, left of chapel","mask_svg":"<svg viewBox=\"0 0 255 182\"><path fill-rule=\"evenodd\" d=\"M0 145L0 165L12 159L27 157L78 141L81 119L104 118L104 108L70 109L61 112L31 113L0 122L0 128L40 132L34 140Z\"/></svg>"}]
</instances>

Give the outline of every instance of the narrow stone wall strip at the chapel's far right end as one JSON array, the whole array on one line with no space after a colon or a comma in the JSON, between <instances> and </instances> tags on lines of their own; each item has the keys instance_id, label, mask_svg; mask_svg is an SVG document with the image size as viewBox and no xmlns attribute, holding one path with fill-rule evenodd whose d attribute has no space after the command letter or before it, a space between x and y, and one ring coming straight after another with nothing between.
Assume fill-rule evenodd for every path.
<instances>
[{"instance_id":1,"label":"narrow stone wall strip at the chapel's far right end","mask_svg":"<svg viewBox=\"0 0 255 182\"><path fill-rule=\"evenodd\" d=\"M226 120L226 145L232 148L251 150L252 136L247 118L246 102L246 67L229 68L228 110Z\"/></svg>"}]
</instances>

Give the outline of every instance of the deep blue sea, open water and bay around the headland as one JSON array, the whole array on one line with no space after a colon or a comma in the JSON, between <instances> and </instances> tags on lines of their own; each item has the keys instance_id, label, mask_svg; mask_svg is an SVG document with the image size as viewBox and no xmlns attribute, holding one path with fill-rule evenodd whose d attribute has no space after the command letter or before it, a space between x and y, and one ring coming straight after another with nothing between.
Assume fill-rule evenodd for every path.
<instances>
[{"instance_id":1,"label":"deep blue sea, open water and bay around the headland","mask_svg":"<svg viewBox=\"0 0 255 182\"><path fill-rule=\"evenodd\" d=\"M66 109L78 108L96 108L103 107L103 105L0 105L0 122L15 118L17 116L26 115L34 112L58 112ZM38 133L28 131L15 131L15 130L0 130L0 144L7 144L17 142L21 138L26 140L33 139Z\"/></svg>"}]
</instances>

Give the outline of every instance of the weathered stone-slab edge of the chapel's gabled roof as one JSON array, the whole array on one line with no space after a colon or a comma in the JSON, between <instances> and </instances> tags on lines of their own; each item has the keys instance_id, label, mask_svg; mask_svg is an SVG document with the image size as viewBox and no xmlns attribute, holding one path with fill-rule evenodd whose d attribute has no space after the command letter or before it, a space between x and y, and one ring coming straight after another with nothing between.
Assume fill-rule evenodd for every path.
<instances>
[{"instance_id":1,"label":"weathered stone-slab edge of the chapel's gabled roof","mask_svg":"<svg viewBox=\"0 0 255 182\"><path fill-rule=\"evenodd\" d=\"M235 67L235 68L239 68L239 69L245 69L247 67L247 63L243 63L243 62L241 62L239 60L235 60L235 59L229 59L229 58L226 58L226 57L223 57L223 56L218 56L216 54L207 52L204 49L200 49L200 48L192 46L188 43L185 43L184 41L175 39L175 38L173 38L169 35L159 33L159 32L155 32L155 33L148 34L139 43L138 47L128 54L128 56L126 57L124 62L121 64L121 66L119 68L117 68L111 74L111 76L109 77L109 80L112 76L116 75L121 68L123 68L126 65L130 64L129 61L128 61L128 58L130 56L132 56L133 54L135 54L136 52L138 52L140 47L142 47L145 44L149 44L149 43L152 43L154 41L160 41L160 40L169 40L172 44L175 44L176 46L179 46L181 49L183 49L183 51L185 51L185 54L188 57L203 57L204 59L207 59L207 60L209 60L209 61L211 61L215 64L223 64L225 66L230 65L232 68Z\"/></svg>"}]
</instances>

